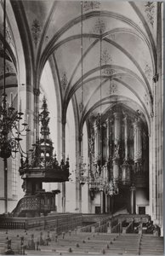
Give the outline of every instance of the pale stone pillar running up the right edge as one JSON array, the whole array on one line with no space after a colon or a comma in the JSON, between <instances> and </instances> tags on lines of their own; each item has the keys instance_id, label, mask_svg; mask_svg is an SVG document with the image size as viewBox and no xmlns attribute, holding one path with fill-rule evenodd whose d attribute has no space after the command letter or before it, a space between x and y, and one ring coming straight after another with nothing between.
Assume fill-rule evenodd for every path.
<instances>
[{"instance_id":1,"label":"pale stone pillar running up the right edge","mask_svg":"<svg viewBox=\"0 0 165 256\"><path fill-rule=\"evenodd\" d=\"M164 82L164 68L163 68L163 3L157 3L157 65L156 73L153 77L154 81L154 123L155 123L155 170L153 172L153 220L161 227L161 236L163 236L163 82ZM151 149L152 150L152 149Z\"/></svg>"}]
</instances>

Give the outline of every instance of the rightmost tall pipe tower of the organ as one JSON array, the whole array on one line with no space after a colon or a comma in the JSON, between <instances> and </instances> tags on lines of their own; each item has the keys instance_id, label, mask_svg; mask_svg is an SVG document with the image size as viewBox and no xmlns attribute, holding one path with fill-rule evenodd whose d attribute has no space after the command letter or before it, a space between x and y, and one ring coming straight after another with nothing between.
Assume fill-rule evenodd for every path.
<instances>
[{"instance_id":1,"label":"rightmost tall pipe tower of the organ","mask_svg":"<svg viewBox=\"0 0 165 256\"><path fill-rule=\"evenodd\" d=\"M139 117L134 121L134 171L142 171L142 127Z\"/></svg>"}]
</instances>

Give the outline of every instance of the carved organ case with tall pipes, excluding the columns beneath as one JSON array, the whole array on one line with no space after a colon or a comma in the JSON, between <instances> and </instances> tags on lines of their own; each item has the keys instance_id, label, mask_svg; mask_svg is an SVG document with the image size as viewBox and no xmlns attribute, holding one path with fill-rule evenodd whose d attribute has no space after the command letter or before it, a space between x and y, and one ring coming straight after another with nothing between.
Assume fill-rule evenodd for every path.
<instances>
[{"instance_id":1,"label":"carved organ case with tall pipes, excluding the columns beneath","mask_svg":"<svg viewBox=\"0 0 165 256\"><path fill-rule=\"evenodd\" d=\"M93 149L89 159L93 177L97 174L97 178L130 186L137 175L143 177L148 172L148 131L141 114L112 108L105 117L98 114L91 125Z\"/></svg>"}]
</instances>

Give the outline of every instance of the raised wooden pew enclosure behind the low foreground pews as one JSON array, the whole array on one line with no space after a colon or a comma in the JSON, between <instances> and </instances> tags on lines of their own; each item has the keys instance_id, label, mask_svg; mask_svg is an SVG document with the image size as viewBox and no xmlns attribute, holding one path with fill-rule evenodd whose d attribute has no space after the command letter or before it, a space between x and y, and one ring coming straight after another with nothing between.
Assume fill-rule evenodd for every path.
<instances>
[{"instance_id":1,"label":"raised wooden pew enclosure behind the low foreground pews","mask_svg":"<svg viewBox=\"0 0 165 256\"><path fill-rule=\"evenodd\" d=\"M93 224L90 220L95 220ZM57 233L66 230L73 230L78 225L82 226L83 222L86 224L85 227L81 228L83 232L102 232L102 233L146 233L156 234L160 236L160 230L156 225L153 225L151 218L148 215L131 215L121 214L116 217L110 215L103 216L83 216L80 213L53 213L48 214L46 217L36 218L6 218L0 217L0 229L51 229L51 227L57 230Z\"/></svg>"}]
</instances>

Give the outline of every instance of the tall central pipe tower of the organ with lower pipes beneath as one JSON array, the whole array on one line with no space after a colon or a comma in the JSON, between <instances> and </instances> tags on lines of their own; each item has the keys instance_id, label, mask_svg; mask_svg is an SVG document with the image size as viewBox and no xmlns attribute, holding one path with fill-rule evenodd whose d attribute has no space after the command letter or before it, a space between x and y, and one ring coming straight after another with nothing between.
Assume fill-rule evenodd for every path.
<instances>
[{"instance_id":1,"label":"tall central pipe tower of the organ with lower pipes beneath","mask_svg":"<svg viewBox=\"0 0 165 256\"><path fill-rule=\"evenodd\" d=\"M119 171L120 171L120 138L121 138L121 116L120 113L114 113L114 121L115 121L115 148L113 154L113 178L115 181L119 179Z\"/></svg>"}]
</instances>

